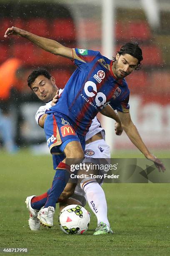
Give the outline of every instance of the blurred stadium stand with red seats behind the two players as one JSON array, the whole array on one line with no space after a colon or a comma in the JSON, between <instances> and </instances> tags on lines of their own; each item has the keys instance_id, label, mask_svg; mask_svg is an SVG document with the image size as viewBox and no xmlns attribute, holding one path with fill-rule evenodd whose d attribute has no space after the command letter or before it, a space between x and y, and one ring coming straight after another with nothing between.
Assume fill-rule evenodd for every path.
<instances>
[{"instance_id":1,"label":"blurred stadium stand with red seats behind the two players","mask_svg":"<svg viewBox=\"0 0 170 256\"><path fill-rule=\"evenodd\" d=\"M5 88L8 84L10 90L14 89L13 85L15 85L15 93L11 95L3 94L5 90L0 92L0 101L1 105L5 100L11 102L10 109L13 110L15 117L15 138L19 146L45 141L43 130L40 130L34 120L35 112L42 103L27 87L26 79L29 72L37 67L45 67L55 77L58 87L63 88L75 66L72 61L47 53L24 38L11 36L5 40L4 33L8 27L17 26L39 36L57 40L68 47L102 52L100 1L86 2L83 4L78 0L0 1L0 10L2 10L0 12L0 86ZM170 3L168 0L162 0L160 5L159 1L156 1L158 22L154 25L148 19L145 9L141 7L141 2L145 1L115 1L115 23L112 24L115 52L131 38L137 38L140 42L143 49L143 67L127 77L131 92L130 112L148 147L168 149L170 147ZM115 52L112 53L113 56ZM12 87L9 87L10 75L5 73L6 67L1 69L5 61L10 59L20 61L19 66L13 66L13 72L18 72L18 67L25 70L22 77L15 79L15 84L11 84ZM12 71L10 74L12 75ZM121 138L115 136L112 143L114 148L133 148L125 134L122 134Z\"/></svg>"}]
</instances>

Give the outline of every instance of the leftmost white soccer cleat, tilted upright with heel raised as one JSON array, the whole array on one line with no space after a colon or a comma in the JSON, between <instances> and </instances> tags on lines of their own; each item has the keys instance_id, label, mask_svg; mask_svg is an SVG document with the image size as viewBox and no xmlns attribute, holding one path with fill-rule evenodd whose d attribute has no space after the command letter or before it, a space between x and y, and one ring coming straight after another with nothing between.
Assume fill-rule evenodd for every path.
<instances>
[{"instance_id":1,"label":"leftmost white soccer cleat, tilted upright with heel raised","mask_svg":"<svg viewBox=\"0 0 170 256\"><path fill-rule=\"evenodd\" d=\"M34 210L31 207L31 199L33 197L35 197L35 195L27 197L26 200L25 200L25 203L26 203L27 208L28 208L28 210L30 212L30 218L28 220L28 224L29 224L30 230L37 231L37 230L40 230L40 221L37 218L38 210Z\"/></svg>"}]
</instances>

